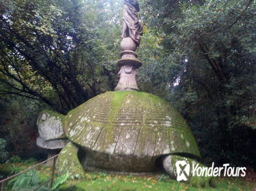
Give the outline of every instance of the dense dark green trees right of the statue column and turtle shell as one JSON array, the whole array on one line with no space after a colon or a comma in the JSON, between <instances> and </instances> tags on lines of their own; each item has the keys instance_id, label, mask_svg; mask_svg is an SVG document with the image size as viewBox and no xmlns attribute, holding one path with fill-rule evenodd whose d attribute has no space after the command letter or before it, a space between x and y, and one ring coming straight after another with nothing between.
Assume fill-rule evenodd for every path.
<instances>
[{"instance_id":1,"label":"dense dark green trees right of the statue column and turtle shell","mask_svg":"<svg viewBox=\"0 0 256 191\"><path fill-rule=\"evenodd\" d=\"M144 83L165 87L206 162L255 167L255 1L161 2L142 1L164 50Z\"/></svg>"}]
</instances>

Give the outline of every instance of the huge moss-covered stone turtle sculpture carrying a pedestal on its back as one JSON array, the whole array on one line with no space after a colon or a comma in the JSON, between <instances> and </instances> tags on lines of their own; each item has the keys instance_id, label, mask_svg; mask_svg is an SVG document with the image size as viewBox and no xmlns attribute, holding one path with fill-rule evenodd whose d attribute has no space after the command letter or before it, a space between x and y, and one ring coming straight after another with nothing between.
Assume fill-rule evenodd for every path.
<instances>
[{"instance_id":1,"label":"huge moss-covered stone turtle sculpture carrying a pedestal on its back","mask_svg":"<svg viewBox=\"0 0 256 191\"><path fill-rule=\"evenodd\" d=\"M84 177L84 171L91 168L137 173L164 168L176 178L177 160L192 164L201 157L183 117L166 100L151 93L110 91L66 116L42 111L38 125L42 129L46 124L47 128L47 120L53 125L53 119L58 124L61 121L69 140L57 158L57 171L73 178ZM63 137L58 134L49 141ZM190 181L199 186L209 184L209 179L197 177L190 177Z\"/></svg>"}]
</instances>

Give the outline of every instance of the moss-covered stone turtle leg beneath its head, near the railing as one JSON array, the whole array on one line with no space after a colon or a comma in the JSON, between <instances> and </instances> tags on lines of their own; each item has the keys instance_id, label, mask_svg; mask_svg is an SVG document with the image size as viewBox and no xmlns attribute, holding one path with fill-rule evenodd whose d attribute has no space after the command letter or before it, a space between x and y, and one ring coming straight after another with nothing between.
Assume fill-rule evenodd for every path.
<instances>
[{"instance_id":1,"label":"moss-covered stone turtle leg beneath its head, near the railing","mask_svg":"<svg viewBox=\"0 0 256 191\"><path fill-rule=\"evenodd\" d=\"M84 168L82 167L79 159L77 158L78 147L69 142L60 151L60 156L57 157L57 174L69 175L71 179L84 178Z\"/></svg>"}]
</instances>

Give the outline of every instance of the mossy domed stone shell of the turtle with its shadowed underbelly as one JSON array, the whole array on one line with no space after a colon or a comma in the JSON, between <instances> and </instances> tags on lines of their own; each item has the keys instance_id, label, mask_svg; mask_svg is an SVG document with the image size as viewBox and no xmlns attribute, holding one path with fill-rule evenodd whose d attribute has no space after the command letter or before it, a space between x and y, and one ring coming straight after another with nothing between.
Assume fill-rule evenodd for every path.
<instances>
[{"instance_id":1,"label":"mossy domed stone shell of the turtle with its shadowed underbelly","mask_svg":"<svg viewBox=\"0 0 256 191\"><path fill-rule=\"evenodd\" d=\"M66 136L86 151L87 164L122 171L151 171L168 153L200 157L190 128L166 100L151 93L110 91L66 115Z\"/></svg>"}]
</instances>

